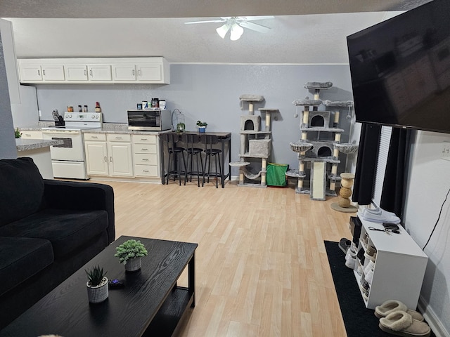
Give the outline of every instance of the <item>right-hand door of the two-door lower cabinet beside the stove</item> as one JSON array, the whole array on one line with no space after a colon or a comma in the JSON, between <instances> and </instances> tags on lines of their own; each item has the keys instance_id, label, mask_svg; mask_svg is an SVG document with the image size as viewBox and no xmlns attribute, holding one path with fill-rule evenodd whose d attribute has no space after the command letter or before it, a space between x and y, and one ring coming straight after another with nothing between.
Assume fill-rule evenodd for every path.
<instances>
[{"instance_id":1,"label":"right-hand door of the two-door lower cabinet beside the stove","mask_svg":"<svg viewBox=\"0 0 450 337\"><path fill-rule=\"evenodd\" d=\"M133 176L131 143L108 143L108 154L111 176Z\"/></svg>"}]
</instances>

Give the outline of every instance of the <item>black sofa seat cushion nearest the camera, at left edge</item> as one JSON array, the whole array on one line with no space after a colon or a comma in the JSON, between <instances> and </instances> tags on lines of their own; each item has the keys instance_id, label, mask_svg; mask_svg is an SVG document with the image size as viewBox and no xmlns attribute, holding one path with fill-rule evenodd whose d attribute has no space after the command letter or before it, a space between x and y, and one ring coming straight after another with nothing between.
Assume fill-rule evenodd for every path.
<instances>
[{"instance_id":1,"label":"black sofa seat cushion nearest the camera, at left edge","mask_svg":"<svg viewBox=\"0 0 450 337\"><path fill-rule=\"evenodd\" d=\"M53 263L48 240L0 237L0 295Z\"/></svg>"}]
</instances>

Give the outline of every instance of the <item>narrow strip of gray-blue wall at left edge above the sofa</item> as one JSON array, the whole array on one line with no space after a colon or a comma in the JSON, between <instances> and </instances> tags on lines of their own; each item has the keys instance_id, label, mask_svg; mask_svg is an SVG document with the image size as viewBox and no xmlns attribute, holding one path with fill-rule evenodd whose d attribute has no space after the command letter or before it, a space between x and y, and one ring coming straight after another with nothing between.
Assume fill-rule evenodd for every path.
<instances>
[{"instance_id":1,"label":"narrow strip of gray-blue wall at left edge above the sofa","mask_svg":"<svg viewBox=\"0 0 450 337\"><path fill-rule=\"evenodd\" d=\"M0 36L0 159L17 158L3 44Z\"/></svg>"}]
</instances>

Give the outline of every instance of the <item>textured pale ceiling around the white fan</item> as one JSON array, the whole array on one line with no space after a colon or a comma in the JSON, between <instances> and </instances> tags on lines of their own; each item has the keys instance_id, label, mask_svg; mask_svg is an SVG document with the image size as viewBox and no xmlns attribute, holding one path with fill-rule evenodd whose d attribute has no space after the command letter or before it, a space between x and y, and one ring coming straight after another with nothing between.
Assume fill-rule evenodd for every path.
<instances>
[{"instance_id":1,"label":"textured pale ceiling around the white fan","mask_svg":"<svg viewBox=\"0 0 450 337\"><path fill-rule=\"evenodd\" d=\"M346 37L427 0L155 1L1 0L13 22L18 58L164 56L169 62L347 63ZM124 4L126 4L124 6ZM387 12L389 11L389 12ZM184 22L276 15L221 39L220 23Z\"/></svg>"}]
</instances>

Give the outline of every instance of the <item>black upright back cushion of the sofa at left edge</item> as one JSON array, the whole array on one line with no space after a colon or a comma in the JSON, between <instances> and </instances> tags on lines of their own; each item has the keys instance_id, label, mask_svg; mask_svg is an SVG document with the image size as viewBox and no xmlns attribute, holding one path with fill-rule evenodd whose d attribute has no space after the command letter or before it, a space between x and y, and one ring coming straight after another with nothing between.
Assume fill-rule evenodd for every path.
<instances>
[{"instance_id":1,"label":"black upright back cushion of the sofa at left edge","mask_svg":"<svg viewBox=\"0 0 450 337\"><path fill-rule=\"evenodd\" d=\"M39 211L44 180L31 158L0 160L0 226Z\"/></svg>"}]
</instances>

